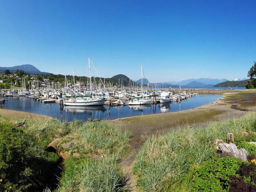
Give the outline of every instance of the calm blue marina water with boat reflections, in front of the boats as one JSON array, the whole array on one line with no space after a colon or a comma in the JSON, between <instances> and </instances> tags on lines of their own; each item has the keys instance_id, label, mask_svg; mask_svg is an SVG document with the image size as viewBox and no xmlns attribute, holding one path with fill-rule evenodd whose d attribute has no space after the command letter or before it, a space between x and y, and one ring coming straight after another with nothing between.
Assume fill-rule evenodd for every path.
<instances>
[{"instance_id":1,"label":"calm blue marina water with boat reflections, in front of the boats","mask_svg":"<svg viewBox=\"0 0 256 192\"><path fill-rule=\"evenodd\" d=\"M29 113L43 114L52 116L60 120L72 121L74 119L86 121L88 118L95 119L117 119L123 117L154 114L154 113L168 113L175 111L182 111L193 109L207 103L217 101L221 98L220 94L200 94L193 96L180 103L160 103L157 105L125 105L118 107L95 106L95 107L60 107L58 103L40 103L35 100L30 100L24 97L20 98L6 98L8 101L0 104L2 109L12 109L17 111L25 111Z\"/></svg>"}]
</instances>

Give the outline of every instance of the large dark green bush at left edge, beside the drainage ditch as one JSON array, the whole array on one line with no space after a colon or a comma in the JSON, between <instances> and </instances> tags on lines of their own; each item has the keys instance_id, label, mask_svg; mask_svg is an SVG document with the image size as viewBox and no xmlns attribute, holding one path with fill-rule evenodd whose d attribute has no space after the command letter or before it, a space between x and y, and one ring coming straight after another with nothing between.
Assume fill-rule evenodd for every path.
<instances>
[{"instance_id":1,"label":"large dark green bush at left edge, beside the drainage ditch","mask_svg":"<svg viewBox=\"0 0 256 192\"><path fill-rule=\"evenodd\" d=\"M59 160L24 128L0 122L0 191L41 190Z\"/></svg>"}]
</instances>

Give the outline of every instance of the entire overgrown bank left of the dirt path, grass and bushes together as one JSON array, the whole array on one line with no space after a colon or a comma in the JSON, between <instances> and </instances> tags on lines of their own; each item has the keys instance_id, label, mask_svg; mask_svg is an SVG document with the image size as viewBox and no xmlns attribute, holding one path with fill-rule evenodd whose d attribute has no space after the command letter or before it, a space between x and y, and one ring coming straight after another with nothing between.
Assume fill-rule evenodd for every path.
<instances>
[{"instance_id":1,"label":"entire overgrown bank left of the dirt path, grass and bushes together","mask_svg":"<svg viewBox=\"0 0 256 192\"><path fill-rule=\"evenodd\" d=\"M126 154L130 133L102 122L62 122L52 118L27 119L0 115L0 190L40 191L45 189L59 161L46 152L54 138L73 142L64 161L58 191L125 191L119 158ZM74 155L76 153L76 155ZM49 186L50 187L50 186Z\"/></svg>"}]
</instances>

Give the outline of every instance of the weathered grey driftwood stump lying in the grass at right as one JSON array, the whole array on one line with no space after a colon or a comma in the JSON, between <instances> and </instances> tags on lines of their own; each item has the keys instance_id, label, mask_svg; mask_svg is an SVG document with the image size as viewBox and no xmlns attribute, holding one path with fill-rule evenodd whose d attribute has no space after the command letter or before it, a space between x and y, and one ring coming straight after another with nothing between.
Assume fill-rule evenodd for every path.
<instances>
[{"instance_id":1,"label":"weathered grey driftwood stump lying in the grass at right","mask_svg":"<svg viewBox=\"0 0 256 192\"><path fill-rule=\"evenodd\" d=\"M245 149L237 149L236 144L220 143L217 150L222 153L231 153L233 157L237 157L243 161L247 159L247 151Z\"/></svg>"}]
</instances>

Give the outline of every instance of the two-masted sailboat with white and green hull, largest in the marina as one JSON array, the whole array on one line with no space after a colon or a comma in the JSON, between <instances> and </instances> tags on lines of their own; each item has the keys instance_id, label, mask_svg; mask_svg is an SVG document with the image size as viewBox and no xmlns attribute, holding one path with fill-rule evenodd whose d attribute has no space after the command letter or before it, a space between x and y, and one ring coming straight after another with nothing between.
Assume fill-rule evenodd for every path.
<instances>
[{"instance_id":1,"label":"two-masted sailboat with white and green hull, largest in the marina","mask_svg":"<svg viewBox=\"0 0 256 192\"><path fill-rule=\"evenodd\" d=\"M91 64L90 64L90 58L88 58L89 61L89 73L90 73L90 89L91 89L91 97L86 98L76 98L76 95L74 98L70 98L69 100L63 101L64 105L69 106L95 106L95 105L104 105L106 102L105 98L93 98L92 97L92 87L91 87ZM74 72L73 72L73 78L74 78ZM75 79L74 79L75 81ZM75 82L74 82L75 85ZM76 88L74 86L74 93L76 94Z\"/></svg>"}]
</instances>

